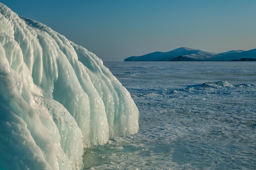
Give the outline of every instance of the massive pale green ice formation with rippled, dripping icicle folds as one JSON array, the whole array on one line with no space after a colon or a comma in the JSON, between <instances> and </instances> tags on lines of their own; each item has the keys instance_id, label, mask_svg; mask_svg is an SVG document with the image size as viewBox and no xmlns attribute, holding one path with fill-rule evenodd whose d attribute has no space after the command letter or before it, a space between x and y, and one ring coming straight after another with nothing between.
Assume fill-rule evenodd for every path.
<instances>
[{"instance_id":1,"label":"massive pale green ice formation with rippled, dripping icicle folds","mask_svg":"<svg viewBox=\"0 0 256 170\"><path fill-rule=\"evenodd\" d=\"M84 147L136 133L138 118L96 55L0 4L1 170L79 170Z\"/></svg>"}]
</instances>

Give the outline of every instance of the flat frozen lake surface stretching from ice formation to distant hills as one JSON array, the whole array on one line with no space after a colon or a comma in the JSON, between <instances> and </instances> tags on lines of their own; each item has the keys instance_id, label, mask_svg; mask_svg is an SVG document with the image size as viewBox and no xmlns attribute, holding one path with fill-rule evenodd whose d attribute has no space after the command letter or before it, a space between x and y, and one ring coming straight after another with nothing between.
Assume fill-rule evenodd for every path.
<instances>
[{"instance_id":1,"label":"flat frozen lake surface stretching from ice formation to distant hills","mask_svg":"<svg viewBox=\"0 0 256 170\"><path fill-rule=\"evenodd\" d=\"M140 130L85 151L85 169L254 169L254 62L106 62ZM92 168L93 167L93 168Z\"/></svg>"}]
</instances>

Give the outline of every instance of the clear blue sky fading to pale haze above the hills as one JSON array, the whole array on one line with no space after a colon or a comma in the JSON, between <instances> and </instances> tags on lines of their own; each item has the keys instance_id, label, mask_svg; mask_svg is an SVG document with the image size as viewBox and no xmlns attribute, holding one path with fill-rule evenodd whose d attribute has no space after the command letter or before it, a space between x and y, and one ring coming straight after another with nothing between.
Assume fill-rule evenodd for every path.
<instances>
[{"instance_id":1,"label":"clear blue sky fading to pale haze above the hills","mask_svg":"<svg viewBox=\"0 0 256 170\"><path fill-rule=\"evenodd\" d=\"M0 0L103 61L189 47L256 49L256 0Z\"/></svg>"}]
</instances>

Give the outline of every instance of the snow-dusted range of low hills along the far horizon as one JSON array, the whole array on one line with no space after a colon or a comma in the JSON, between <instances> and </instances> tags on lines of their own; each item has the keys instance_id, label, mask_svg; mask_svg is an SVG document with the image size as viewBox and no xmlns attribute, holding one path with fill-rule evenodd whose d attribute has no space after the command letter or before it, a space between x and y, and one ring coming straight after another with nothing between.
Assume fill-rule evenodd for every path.
<instances>
[{"instance_id":1,"label":"snow-dusted range of low hills along the far horizon","mask_svg":"<svg viewBox=\"0 0 256 170\"><path fill-rule=\"evenodd\" d=\"M198 49L181 47L168 52L153 52L132 56L124 61L255 61L256 49L232 50L224 53L210 53Z\"/></svg>"}]
</instances>

